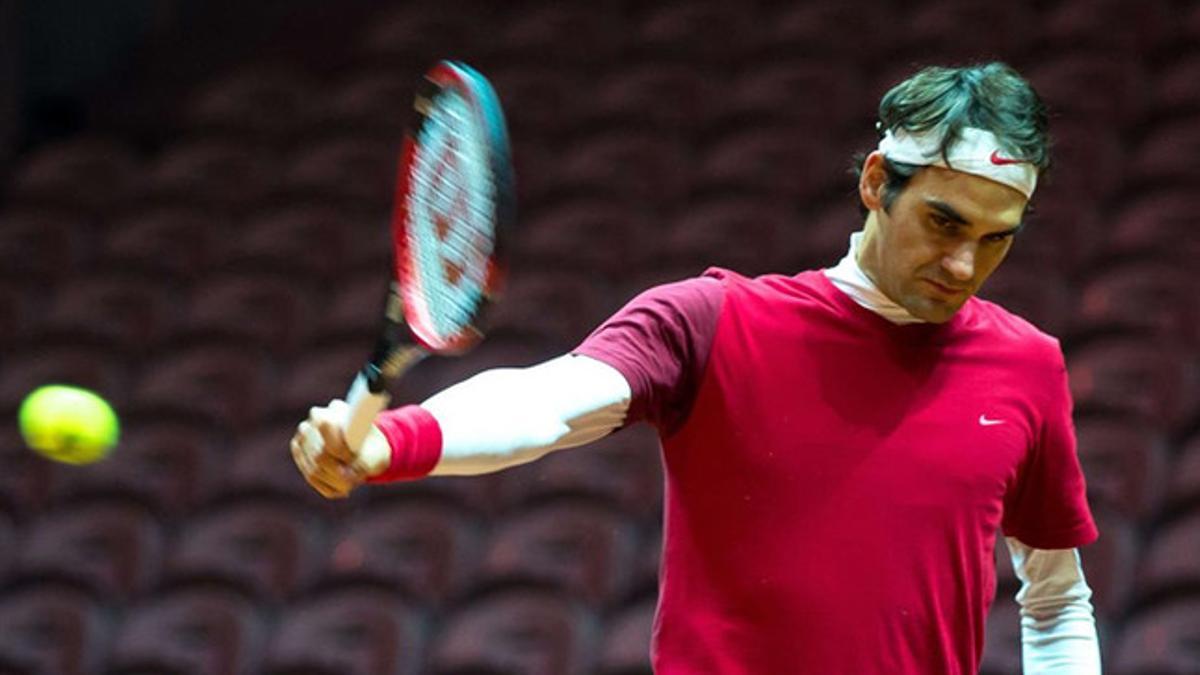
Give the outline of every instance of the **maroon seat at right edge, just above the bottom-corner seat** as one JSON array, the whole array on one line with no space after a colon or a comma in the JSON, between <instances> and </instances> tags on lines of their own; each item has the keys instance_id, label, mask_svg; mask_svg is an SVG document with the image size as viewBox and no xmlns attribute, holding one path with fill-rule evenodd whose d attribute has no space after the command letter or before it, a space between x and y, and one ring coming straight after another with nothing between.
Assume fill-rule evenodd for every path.
<instances>
[{"instance_id":1,"label":"maroon seat at right edge, just above the bottom-corner seat","mask_svg":"<svg viewBox=\"0 0 1200 675\"><path fill-rule=\"evenodd\" d=\"M1140 597L1177 593L1200 585L1200 510L1158 525L1142 549L1135 592Z\"/></svg>"}]
</instances>

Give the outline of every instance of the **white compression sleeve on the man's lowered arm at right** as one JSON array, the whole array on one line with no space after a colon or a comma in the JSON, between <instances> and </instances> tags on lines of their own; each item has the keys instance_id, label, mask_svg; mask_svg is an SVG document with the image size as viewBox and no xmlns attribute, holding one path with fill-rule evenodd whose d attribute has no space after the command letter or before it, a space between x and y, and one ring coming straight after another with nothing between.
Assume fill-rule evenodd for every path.
<instances>
[{"instance_id":1,"label":"white compression sleeve on the man's lowered arm at right","mask_svg":"<svg viewBox=\"0 0 1200 675\"><path fill-rule=\"evenodd\" d=\"M1021 667L1025 675L1099 675L1092 590L1075 549L1034 549L1006 537L1021 580Z\"/></svg>"}]
</instances>

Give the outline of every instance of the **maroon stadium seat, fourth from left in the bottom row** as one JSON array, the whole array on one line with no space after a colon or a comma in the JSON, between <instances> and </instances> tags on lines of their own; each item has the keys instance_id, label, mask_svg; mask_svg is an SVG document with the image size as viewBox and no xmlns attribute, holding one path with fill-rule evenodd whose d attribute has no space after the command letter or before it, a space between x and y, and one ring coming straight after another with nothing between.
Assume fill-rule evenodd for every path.
<instances>
[{"instance_id":1,"label":"maroon stadium seat, fourth from left in the bottom row","mask_svg":"<svg viewBox=\"0 0 1200 675\"><path fill-rule=\"evenodd\" d=\"M446 619L431 675L586 675L599 646L595 616L557 593L508 590Z\"/></svg>"}]
</instances>

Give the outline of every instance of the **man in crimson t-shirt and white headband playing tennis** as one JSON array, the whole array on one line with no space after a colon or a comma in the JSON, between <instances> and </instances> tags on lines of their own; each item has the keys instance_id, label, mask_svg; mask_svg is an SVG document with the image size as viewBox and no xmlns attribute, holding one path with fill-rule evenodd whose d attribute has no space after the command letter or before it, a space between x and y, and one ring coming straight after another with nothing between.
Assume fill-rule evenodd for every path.
<instances>
[{"instance_id":1,"label":"man in crimson t-shirt and white headband playing tennis","mask_svg":"<svg viewBox=\"0 0 1200 675\"><path fill-rule=\"evenodd\" d=\"M1062 352L974 298L1049 163L1044 107L1003 64L926 68L878 129L838 265L652 288L570 354L380 416L359 452L344 404L313 408L298 466L338 497L647 420L666 467L658 673L974 673L998 531L1026 673L1099 673Z\"/></svg>"}]
</instances>

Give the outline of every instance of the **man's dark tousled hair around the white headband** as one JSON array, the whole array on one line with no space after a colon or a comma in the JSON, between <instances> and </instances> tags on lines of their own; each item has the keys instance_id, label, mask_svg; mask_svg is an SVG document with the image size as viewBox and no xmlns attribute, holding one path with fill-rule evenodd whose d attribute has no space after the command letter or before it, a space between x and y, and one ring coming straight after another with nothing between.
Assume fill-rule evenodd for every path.
<instances>
[{"instance_id":1,"label":"man's dark tousled hair around the white headband","mask_svg":"<svg viewBox=\"0 0 1200 675\"><path fill-rule=\"evenodd\" d=\"M901 129L912 133L942 131L943 160L967 127L995 133L1006 153L1032 163L1039 174L1050 168L1045 104L1033 86L1007 64L926 67L880 100L876 124L880 138ZM854 157L856 177L862 175L865 159L865 153ZM892 160L884 160L883 166L887 172L883 209L889 210L908 180L924 167Z\"/></svg>"}]
</instances>

